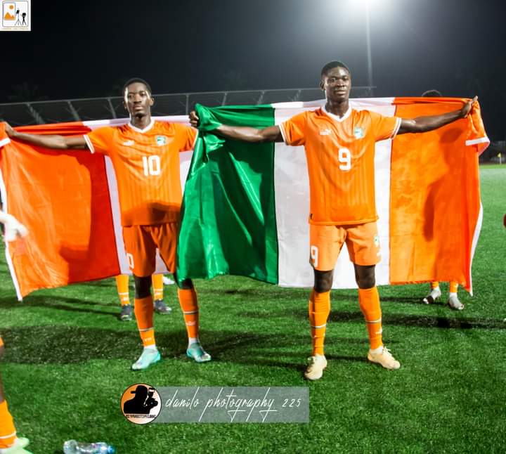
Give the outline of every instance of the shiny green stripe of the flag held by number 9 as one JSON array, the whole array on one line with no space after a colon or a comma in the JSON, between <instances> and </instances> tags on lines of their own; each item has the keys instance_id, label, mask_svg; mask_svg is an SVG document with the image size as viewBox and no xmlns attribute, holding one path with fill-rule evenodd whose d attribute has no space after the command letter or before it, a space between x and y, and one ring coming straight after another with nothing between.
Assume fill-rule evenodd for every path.
<instances>
[{"instance_id":1,"label":"shiny green stripe of the flag held by number 9","mask_svg":"<svg viewBox=\"0 0 506 454\"><path fill-rule=\"evenodd\" d=\"M272 126L274 110L268 105L205 108L198 104L196 110L202 130L181 207L178 278L233 274L278 283L274 145L212 134L221 123Z\"/></svg>"}]
</instances>

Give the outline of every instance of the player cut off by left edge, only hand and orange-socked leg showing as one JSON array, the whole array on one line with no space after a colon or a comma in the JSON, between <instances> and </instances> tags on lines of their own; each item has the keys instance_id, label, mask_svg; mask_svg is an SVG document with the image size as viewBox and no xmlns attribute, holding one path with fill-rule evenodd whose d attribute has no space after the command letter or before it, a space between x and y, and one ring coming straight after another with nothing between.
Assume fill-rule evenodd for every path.
<instances>
[{"instance_id":1,"label":"player cut off by left edge, only hand and orange-socked leg showing","mask_svg":"<svg viewBox=\"0 0 506 454\"><path fill-rule=\"evenodd\" d=\"M27 229L11 214L0 212L0 222L5 226L4 240L14 241L27 235ZM4 340L0 336L0 360L4 356ZM4 393L4 386L0 375L0 454L30 454L25 446L30 441L25 438L18 438L14 427L13 417L8 410Z\"/></svg>"}]
</instances>

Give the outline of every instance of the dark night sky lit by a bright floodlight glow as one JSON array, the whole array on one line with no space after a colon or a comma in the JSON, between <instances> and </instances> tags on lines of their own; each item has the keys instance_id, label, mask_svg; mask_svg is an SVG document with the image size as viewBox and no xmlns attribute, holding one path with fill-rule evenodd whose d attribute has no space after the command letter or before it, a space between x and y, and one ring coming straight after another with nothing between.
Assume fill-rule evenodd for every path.
<instances>
[{"instance_id":1,"label":"dark night sky lit by a bright floodlight glow","mask_svg":"<svg viewBox=\"0 0 506 454\"><path fill-rule=\"evenodd\" d=\"M328 60L367 84L358 0L32 1L32 32L1 32L0 103L12 86L50 99L308 88ZM506 1L372 0L375 96L478 94L489 135L506 134ZM232 83L229 72L239 74Z\"/></svg>"}]
</instances>

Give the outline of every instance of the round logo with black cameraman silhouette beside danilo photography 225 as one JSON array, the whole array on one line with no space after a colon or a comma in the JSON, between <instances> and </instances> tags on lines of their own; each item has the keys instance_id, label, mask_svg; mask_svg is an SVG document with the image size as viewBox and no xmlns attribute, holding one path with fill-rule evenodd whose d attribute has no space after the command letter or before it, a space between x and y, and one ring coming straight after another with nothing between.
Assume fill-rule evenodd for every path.
<instances>
[{"instance_id":1,"label":"round logo with black cameraman silhouette beside danilo photography 225","mask_svg":"<svg viewBox=\"0 0 506 454\"><path fill-rule=\"evenodd\" d=\"M121 398L124 417L134 424L148 424L160 415L160 394L150 384L136 383L126 388Z\"/></svg>"}]
</instances>

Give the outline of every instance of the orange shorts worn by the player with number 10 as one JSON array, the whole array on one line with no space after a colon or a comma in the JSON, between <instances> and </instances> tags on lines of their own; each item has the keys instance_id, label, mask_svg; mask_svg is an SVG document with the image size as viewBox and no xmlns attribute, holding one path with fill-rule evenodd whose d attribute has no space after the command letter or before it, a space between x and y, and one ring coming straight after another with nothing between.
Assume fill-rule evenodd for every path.
<instances>
[{"instance_id":1,"label":"orange shorts worn by the player with number 10","mask_svg":"<svg viewBox=\"0 0 506 454\"><path fill-rule=\"evenodd\" d=\"M150 276L156 268L156 251L169 273L176 271L179 223L123 227L123 242L129 268L138 278Z\"/></svg>"}]
</instances>

